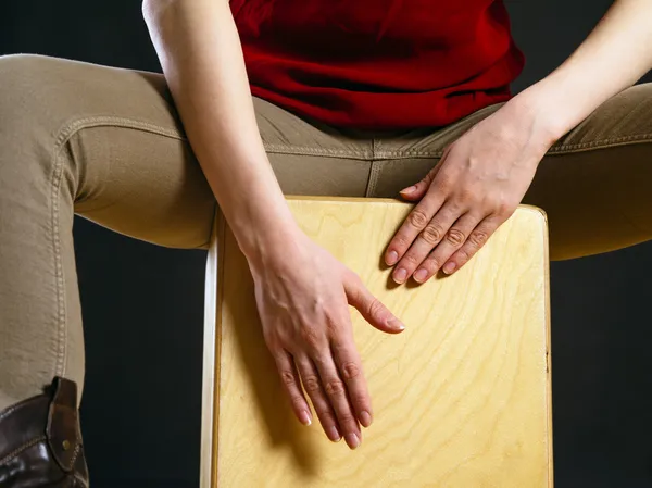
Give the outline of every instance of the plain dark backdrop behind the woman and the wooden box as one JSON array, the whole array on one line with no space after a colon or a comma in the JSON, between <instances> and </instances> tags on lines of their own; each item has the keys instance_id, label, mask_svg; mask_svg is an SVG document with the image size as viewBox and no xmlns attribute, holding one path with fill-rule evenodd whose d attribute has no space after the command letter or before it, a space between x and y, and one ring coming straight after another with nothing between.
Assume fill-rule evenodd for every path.
<instances>
[{"instance_id":1,"label":"plain dark backdrop behind the woman and the wooden box","mask_svg":"<svg viewBox=\"0 0 652 488\"><path fill-rule=\"evenodd\" d=\"M528 59L515 89L562 62L611 3L507 1ZM160 72L138 0L0 0L0 54L15 52ZM197 487L205 253L82 218L74 232L93 487ZM651 270L651 243L552 264L557 488L652 487Z\"/></svg>"}]
</instances>

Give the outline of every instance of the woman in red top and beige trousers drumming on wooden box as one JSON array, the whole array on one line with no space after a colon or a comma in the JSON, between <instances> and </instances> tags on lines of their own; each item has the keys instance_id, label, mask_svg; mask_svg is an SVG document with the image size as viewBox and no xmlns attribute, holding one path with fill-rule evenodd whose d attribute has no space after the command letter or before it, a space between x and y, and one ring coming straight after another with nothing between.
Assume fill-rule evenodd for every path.
<instances>
[{"instance_id":1,"label":"woman in red top and beige trousers drumming on wooden box","mask_svg":"<svg viewBox=\"0 0 652 488\"><path fill-rule=\"evenodd\" d=\"M415 202L384 256L399 284L454 273L522 201L548 212L553 259L652 237L652 86L628 88L652 67L650 2L616 1L515 97L501 0L379 3L146 0L164 77L0 59L0 484L87 483L75 213L205 248L217 202L298 420L308 395L351 449L373 411L348 304L403 326L284 192Z\"/></svg>"}]
</instances>

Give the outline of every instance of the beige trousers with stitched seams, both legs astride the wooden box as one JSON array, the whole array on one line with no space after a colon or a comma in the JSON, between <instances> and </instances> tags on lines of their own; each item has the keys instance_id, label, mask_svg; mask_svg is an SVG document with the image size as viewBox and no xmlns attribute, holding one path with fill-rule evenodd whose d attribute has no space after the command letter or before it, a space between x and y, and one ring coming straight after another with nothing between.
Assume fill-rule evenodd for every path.
<instances>
[{"instance_id":1,"label":"beige trousers with stitched seams, both legs astride the wooden box","mask_svg":"<svg viewBox=\"0 0 652 488\"><path fill-rule=\"evenodd\" d=\"M396 197L498 105L441 129L374 135L254 99L285 193ZM544 158L525 198L551 255L652 238L652 85L604 103ZM215 200L158 74L0 58L0 409L54 375L83 385L73 216L172 248L208 246Z\"/></svg>"}]
</instances>

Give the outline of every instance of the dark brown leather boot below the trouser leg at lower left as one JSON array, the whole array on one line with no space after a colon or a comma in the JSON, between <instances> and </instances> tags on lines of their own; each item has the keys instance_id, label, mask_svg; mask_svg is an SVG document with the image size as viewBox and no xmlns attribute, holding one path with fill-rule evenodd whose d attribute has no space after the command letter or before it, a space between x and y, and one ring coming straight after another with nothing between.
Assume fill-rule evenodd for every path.
<instances>
[{"instance_id":1,"label":"dark brown leather boot below the trouser leg at lower left","mask_svg":"<svg viewBox=\"0 0 652 488\"><path fill-rule=\"evenodd\" d=\"M74 381L0 412L0 487L88 487Z\"/></svg>"}]
</instances>

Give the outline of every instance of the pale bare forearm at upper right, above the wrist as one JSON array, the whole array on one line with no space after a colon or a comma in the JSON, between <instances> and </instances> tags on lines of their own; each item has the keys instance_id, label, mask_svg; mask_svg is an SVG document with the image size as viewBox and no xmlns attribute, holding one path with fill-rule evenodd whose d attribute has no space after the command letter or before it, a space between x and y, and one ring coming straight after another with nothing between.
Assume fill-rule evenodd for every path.
<instances>
[{"instance_id":1,"label":"pale bare forearm at upper right, above the wrist","mask_svg":"<svg viewBox=\"0 0 652 488\"><path fill-rule=\"evenodd\" d=\"M581 46L512 102L556 140L652 68L652 1L616 0Z\"/></svg>"}]
</instances>

